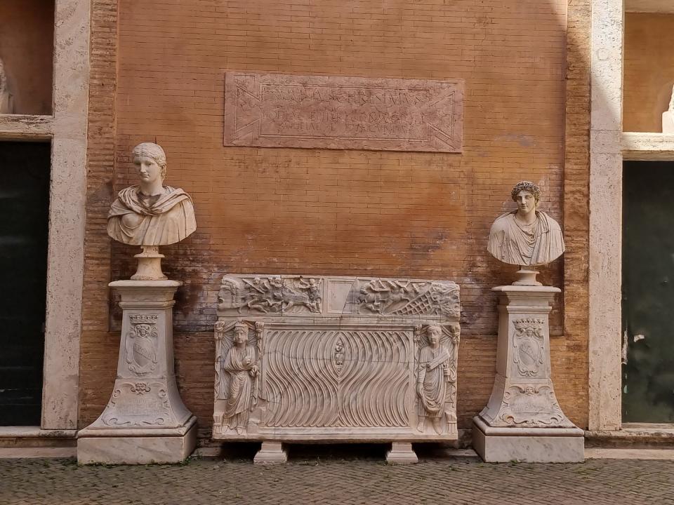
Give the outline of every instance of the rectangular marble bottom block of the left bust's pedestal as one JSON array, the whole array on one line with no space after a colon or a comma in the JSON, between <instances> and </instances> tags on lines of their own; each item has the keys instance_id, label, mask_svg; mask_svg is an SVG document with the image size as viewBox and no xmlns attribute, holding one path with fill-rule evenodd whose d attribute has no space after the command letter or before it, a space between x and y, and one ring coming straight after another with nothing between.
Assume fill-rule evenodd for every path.
<instances>
[{"instance_id":1,"label":"rectangular marble bottom block of the left bust's pedestal","mask_svg":"<svg viewBox=\"0 0 674 505\"><path fill-rule=\"evenodd\" d=\"M180 463L197 446L197 419L192 417L181 429L131 429L127 433L114 430L80 431L77 439L79 464L152 464ZM110 430L112 432L112 430ZM182 432L182 433L181 433Z\"/></svg>"}]
</instances>

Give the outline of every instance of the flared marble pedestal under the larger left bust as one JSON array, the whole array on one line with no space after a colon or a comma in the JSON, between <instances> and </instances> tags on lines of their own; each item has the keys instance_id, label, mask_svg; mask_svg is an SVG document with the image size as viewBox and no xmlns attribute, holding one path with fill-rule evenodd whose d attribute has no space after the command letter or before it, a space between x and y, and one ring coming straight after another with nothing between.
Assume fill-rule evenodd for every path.
<instances>
[{"instance_id":1,"label":"flared marble pedestal under the larger left bust","mask_svg":"<svg viewBox=\"0 0 674 505\"><path fill-rule=\"evenodd\" d=\"M173 369L173 295L178 281L115 281L124 309L117 379L103 414L81 430L81 464L176 463L197 441L196 418Z\"/></svg>"}]
</instances>

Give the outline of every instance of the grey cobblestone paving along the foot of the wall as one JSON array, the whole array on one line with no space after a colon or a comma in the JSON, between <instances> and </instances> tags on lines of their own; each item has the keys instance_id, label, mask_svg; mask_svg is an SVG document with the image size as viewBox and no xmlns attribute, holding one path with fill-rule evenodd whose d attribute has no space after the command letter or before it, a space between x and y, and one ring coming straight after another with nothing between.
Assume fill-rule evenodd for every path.
<instances>
[{"instance_id":1,"label":"grey cobblestone paving along the foot of the wall","mask_svg":"<svg viewBox=\"0 0 674 505\"><path fill-rule=\"evenodd\" d=\"M485 464L427 455L388 466L351 450L298 447L291 462L253 466L252 453L180 465L78 466L67 459L0 460L1 505L674 504L674 462Z\"/></svg>"}]
</instances>

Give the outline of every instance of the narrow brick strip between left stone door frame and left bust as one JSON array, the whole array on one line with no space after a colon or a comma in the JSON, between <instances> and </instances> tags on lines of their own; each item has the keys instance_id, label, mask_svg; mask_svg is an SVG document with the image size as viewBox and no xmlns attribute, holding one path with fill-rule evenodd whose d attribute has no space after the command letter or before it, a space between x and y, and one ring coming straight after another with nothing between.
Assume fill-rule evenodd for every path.
<instances>
[{"instance_id":1,"label":"narrow brick strip between left stone door frame and left bust","mask_svg":"<svg viewBox=\"0 0 674 505\"><path fill-rule=\"evenodd\" d=\"M110 398L117 372L119 333L108 317L110 238L117 87L117 0L91 2L91 67L87 135L84 295L80 341L78 426L90 424Z\"/></svg>"}]
</instances>

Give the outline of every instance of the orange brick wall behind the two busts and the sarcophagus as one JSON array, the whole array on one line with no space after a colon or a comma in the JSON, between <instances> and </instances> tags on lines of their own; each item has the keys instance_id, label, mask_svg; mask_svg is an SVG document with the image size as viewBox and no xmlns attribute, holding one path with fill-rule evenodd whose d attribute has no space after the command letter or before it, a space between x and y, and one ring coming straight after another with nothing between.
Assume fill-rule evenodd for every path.
<instances>
[{"instance_id":1,"label":"orange brick wall behind the two busts and the sarcophagus","mask_svg":"<svg viewBox=\"0 0 674 505\"><path fill-rule=\"evenodd\" d=\"M97 16L112 2L95 4ZM85 294L91 307L83 335L81 425L100 413L112 388L119 311L111 304L108 321L105 281L110 274L128 278L135 251L117 244L111 250L101 230L110 184L116 191L134 182L130 153L141 141L156 140L166 149L166 182L189 192L197 212L197 232L162 252L165 273L185 282L176 304L176 370L183 399L201 426L211 423L211 325L225 272L457 281L463 300L462 428L486 404L494 379L497 314L490 289L510 283L515 269L489 257L487 234L496 216L514 208L509 195L518 180L540 184L541 208L558 220L563 208L578 213L575 224L564 224L565 231L574 232L567 238L567 263L555 262L542 280L583 295L582 286L574 291L571 281L562 281L562 271L569 275L578 269L581 281L586 275L587 67L566 74L564 69L567 57L569 65L583 65L587 46L567 51L574 41L567 41L565 33L566 3L317 4L121 1L116 133L110 127L115 118L106 116L107 130L90 143L90 170L96 177L89 181L87 265L97 271L87 277L95 295ZM586 1L580 4L585 8ZM99 32L92 47L103 51L114 30L108 32L96 19ZM586 36L582 16L574 20L576 32ZM114 67L106 62L101 72ZM463 154L223 147L227 70L463 78ZM565 78L577 87L566 89ZM110 81L92 91L92 100L102 107L113 102ZM576 100L571 107L565 107L567 97ZM579 130L565 142L565 126L574 126L569 121L576 121ZM94 166L94 154L107 164ZM576 170L570 177L564 174L565 157ZM564 184L581 193L564 198ZM571 316L581 320L574 332L569 317L562 317L562 301L569 304L568 298L560 297L552 314L553 374L565 386L562 408L583 426L587 356L582 321L587 314L582 303L571 301Z\"/></svg>"}]
</instances>

